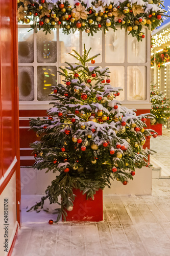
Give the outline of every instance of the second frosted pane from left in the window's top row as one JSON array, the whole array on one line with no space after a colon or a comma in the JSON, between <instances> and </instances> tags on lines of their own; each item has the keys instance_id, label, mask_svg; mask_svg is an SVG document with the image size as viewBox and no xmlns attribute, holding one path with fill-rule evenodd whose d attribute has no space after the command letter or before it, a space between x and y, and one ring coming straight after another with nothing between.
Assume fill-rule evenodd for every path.
<instances>
[{"instance_id":1,"label":"second frosted pane from left in the window's top row","mask_svg":"<svg viewBox=\"0 0 170 256\"><path fill-rule=\"evenodd\" d=\"M57 61L56 33L56 29L47 35L42 30L37 32L37 62L55 63Z\"/></svg>"}]
</instances>

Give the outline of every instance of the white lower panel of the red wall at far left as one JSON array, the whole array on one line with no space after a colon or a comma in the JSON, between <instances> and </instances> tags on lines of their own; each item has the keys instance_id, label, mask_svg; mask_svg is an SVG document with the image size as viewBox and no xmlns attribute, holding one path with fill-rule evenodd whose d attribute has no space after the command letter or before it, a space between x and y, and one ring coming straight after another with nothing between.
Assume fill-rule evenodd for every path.
<instances>
[{"instance_id":1,"label":"white lower panel of the red wall at far left","mask_svg":"<svg viewBox=\"0 0 170 256\"><path fill-rule=\"evenodd\" d=\"M8 185L5 187L3 193L0 196L0 252L1 256L6 256L8 252L4 251L4 199L8 199L8 251L11 247L15 231L17 228L16 221L16 176L15 173L11 177Z\"/></svg>"}]
</instances>

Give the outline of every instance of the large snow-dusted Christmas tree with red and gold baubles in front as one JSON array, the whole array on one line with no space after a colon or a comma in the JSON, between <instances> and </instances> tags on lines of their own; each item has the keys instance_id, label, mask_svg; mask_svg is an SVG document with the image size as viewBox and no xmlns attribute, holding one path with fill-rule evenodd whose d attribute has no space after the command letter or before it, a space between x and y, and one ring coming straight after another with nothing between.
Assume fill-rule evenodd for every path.
<instances>
[{"instance_id":1,"label":"large snow-dusted Christmas tree with red and gold baubles in front","mask_svg":"<svg viewBox=\"0 0 170 256\"><path fill-rule=\"evenodd\" d=\"M94 198L96 190L110 187L111 179L127 185L136 168L149 166L148 155L153 154L142 145L152 136L152 130L144 129L146 118L154 116L136 116L133 110L121 106L117 96L122 88L111 86L109 69L88 67L99 54L88 57L90 50L85 46L83 56L73 51L75 54L70 55L78 63L65 62L67 67L60 68L64 84L52 87L55 101L47 111L48 117L30 121L31 129L40 137L31 144L34 167L57 172L46 196L31 209L39 211L48 198L51 204L60 205L55 211L57 221L74 205L72 188L82 190L88 200Z\"/></svg>"}]
</instances>

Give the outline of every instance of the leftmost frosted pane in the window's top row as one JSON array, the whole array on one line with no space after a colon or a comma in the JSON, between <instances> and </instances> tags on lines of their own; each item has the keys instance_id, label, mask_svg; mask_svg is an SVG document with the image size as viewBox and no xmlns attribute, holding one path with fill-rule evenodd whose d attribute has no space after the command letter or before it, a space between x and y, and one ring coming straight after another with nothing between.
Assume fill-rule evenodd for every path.
<instances>
[{"instance_id":1,"label":"leftmost frosted pane in the window's top row","mask_svg":"<svg viewBox=\"0 0 170 256\"><path fill-rule=\"evenodd\" d=\"M18 62L32 63L34 61L33 32L30 28L18 29Z\"/></svg>"}]
</instances>

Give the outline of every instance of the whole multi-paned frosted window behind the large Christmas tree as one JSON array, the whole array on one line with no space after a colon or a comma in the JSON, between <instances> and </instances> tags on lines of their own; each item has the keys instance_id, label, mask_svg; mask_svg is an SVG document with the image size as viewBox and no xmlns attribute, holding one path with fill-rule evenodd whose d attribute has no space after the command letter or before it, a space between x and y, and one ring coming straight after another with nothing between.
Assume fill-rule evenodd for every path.
<instances>
[{"instance_id":1,"label":"whole multi-paned frosted window behind the large Christmas tree","mask_svg":"<svg viewBox=\"0 0 170 256\"><path fill-rule=\"evenodd\" d=\"M108 67L114 87L122 87L119 100L128 107L150 108L150 32L144 29L145 38L136 37L120 28L88 36L76 31L65 35L57 27L51 34L42 30L34 33L29 25L18 25L19 101L20 110L47 109L52 93L50 86L62 79L57 70L64 62L76 59L68 53L72 49L82 53L83 44L92 48L91 54L100 53L95 66ZM28 32L29 31L29 32ZM93 66L91 63L89 66Z\"/></svg>"}]
</instances>

